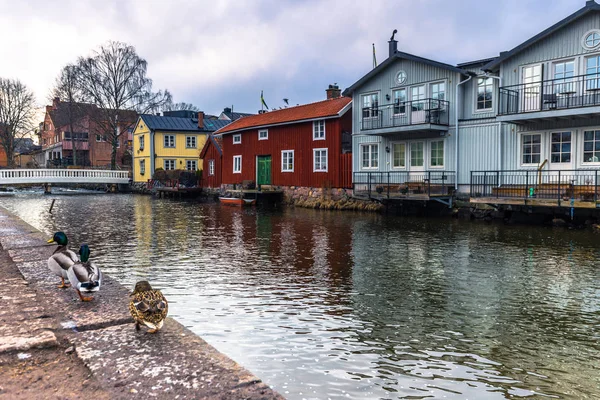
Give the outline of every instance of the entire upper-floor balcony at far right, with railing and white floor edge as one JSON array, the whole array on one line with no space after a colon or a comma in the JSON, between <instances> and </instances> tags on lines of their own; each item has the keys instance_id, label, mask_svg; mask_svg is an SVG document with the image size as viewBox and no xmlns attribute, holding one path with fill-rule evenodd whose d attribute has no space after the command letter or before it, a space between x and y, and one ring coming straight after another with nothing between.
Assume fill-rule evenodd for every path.
<instances>
[{"instance_id":1,"label":"entire upper-floor balcony at far right, with railing and white floor edge","mask_svg":"<svg viewBox=\"0 0 600 400\"><path fill-rule=\"evenodd\" d=\"M500 88L498 119L528 122L539 118L600 114L600 75L580 75Z\"/></svg>"}]
</instances>

